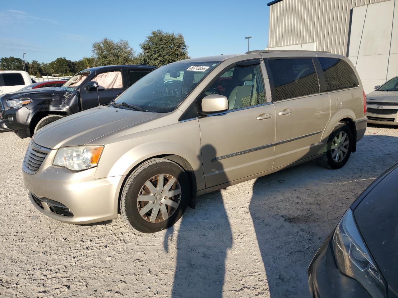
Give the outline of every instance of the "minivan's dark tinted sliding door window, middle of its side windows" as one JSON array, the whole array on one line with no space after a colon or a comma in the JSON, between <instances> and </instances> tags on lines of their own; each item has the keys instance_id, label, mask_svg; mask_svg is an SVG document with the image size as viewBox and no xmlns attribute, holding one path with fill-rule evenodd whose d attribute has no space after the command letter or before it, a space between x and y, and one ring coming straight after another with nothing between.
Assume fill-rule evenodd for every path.
<instances>
[{"instance_id":1,"label":"minivan's dark tinted sliding door window, middle of its side windows","mask_svg":"<svg viewBox=\"0 0 398 298\"><path fill-rule=\"evenodd\" d=\"M312 59L271 59L268 60L273 78L273 101L310 95L319 92Z\"/></svg>"}]
</instances>

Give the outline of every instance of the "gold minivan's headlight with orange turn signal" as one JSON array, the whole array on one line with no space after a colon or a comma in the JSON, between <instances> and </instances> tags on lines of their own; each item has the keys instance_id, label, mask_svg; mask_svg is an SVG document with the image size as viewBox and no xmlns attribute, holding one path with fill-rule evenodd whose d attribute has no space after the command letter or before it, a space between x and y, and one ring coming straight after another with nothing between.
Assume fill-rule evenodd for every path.
<instances>
[{"instance_id":1,"label":"gold minivan's headlight with orange turn signal","mask_svg":"<svg viewBox=\"0 0 398 298\"><path fill-rule=\"evenodd\" d=\"M94 168L100 161L103 145L62 147L58 149L53 164L72 171Z\"/></svg>"}]
</instances>

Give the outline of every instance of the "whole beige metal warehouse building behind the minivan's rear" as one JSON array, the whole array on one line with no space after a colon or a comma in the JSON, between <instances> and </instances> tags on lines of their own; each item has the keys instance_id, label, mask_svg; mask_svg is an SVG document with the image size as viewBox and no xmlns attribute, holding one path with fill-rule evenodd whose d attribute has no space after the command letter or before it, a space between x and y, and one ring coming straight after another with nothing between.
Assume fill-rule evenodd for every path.
<instances>
[{"instance_id":1,"label":"whole beige metal warehouse building behind the minivan's rear","mask_svg":"<svg viewBox=\"0 0 398 298\"><path fill-rule=\"evenodd\" d=\"M365 92L398 75L398 0L275 0L267 49L348 56Z\"/></svg>"}]
</instances>

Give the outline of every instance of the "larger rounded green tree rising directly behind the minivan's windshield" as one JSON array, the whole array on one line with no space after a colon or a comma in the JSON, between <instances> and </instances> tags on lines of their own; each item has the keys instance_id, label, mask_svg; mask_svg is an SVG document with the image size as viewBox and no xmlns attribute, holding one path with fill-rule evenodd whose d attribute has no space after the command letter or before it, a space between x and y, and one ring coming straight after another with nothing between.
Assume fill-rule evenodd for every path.
<instances>
[{"instance_id":1,"label":"larger rounded green tree rising directly behind the minivan's windshield","mask_svg":"<svg viewBox=\"0 0 398 298\"><path fill-rule=\"evenodd\" d=\"M160 67L189 58L188 46L181 33L167 33L162 30L151 31L151 34L140 44L140 47L142 52L139 58L142 64Z\"/></svg>"}]
</instances>

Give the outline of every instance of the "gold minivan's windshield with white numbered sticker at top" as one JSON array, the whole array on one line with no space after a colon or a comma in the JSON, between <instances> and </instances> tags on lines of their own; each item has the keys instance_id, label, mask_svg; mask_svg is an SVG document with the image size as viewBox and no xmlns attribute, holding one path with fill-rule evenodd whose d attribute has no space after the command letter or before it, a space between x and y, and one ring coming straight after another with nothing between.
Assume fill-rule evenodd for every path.
<instances>
[{"instance_id":1,"label":"gold minivan's windshield with white numbered sticker at top","mask_svg":"<svg viewBox=\"0 0 398 298\"><path fill-rule=\"evenodd\" d=\"M115 106L126 108L129 105L147 112L172 112L219 63L174 62L162 66L131 85L117 97Z\"/></svg>"}]
</instances>

